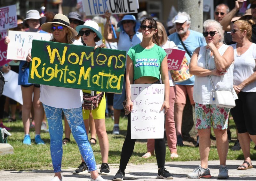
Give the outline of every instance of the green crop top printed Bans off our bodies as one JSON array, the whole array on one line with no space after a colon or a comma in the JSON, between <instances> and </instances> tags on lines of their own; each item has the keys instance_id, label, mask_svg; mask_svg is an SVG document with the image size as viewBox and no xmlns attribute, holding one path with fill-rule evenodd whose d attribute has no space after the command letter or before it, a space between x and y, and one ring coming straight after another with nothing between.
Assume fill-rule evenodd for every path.
<instances>
[{"instance_id":1,"label":"green crop top printed Bans off our bodies","mask_svg":"<svg viewBox=\"0 0 256 181\"><path fill-rule=\"evenodd\" d=\"M161 63L166 56L163 48L157 46L144 49L140 44L131 47L127 53L133 62L134 80L142 76L152 76L160 79Z\"/></svg>"}]
</instances>

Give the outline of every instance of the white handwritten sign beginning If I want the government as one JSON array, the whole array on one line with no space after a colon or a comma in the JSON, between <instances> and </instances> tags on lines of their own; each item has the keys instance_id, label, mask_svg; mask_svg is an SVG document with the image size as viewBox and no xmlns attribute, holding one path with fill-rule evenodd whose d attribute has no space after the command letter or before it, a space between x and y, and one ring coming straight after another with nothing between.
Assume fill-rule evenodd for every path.
<instances>
[{"instance_id":1,"label":"white handwritten sign beginning If I want the government","mask_svg":"<svg viewBox=\"0 0 256 181\"><path fill-rule=\"evenodd\" d=\"M132 84L131 138L164 138L164 84Z\"/></svg>"}]
</instances>

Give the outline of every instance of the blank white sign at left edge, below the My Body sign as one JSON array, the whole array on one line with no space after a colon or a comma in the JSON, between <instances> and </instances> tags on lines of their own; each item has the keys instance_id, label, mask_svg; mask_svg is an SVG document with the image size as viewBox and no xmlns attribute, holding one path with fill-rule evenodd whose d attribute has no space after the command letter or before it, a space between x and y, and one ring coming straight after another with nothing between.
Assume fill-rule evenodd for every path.
<instances>
[{"instance_id":1,"label":"blank white sign at left edge, below the My Body sign","mask_svg":"<svg viewBox=\"0 0 256 181\"><path fill-rule=\"evenodd\" d=\"M10 70L8 73L4 73L4 80L7 82L4 84L3 95L23 105L21 88L18 85L18 74Z\"/></svg>"}]
</instances>

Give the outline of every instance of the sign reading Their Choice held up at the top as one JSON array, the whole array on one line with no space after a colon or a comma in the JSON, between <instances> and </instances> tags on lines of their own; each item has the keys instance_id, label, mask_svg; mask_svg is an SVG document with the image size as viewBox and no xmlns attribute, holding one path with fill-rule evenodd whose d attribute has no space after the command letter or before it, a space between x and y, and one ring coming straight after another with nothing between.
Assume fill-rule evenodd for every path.
<instances>
[{"instance_id":1,"label":"sign reading Their Choice held up at the top","mask_svg":"<svg viewBox=\"0 0 256 181\"><path fill-rule=\"evenodd\" d=\"M131 14L138 12L138 0L83 0L86 16L111 14Z\"/></svg>"}]
</instances>

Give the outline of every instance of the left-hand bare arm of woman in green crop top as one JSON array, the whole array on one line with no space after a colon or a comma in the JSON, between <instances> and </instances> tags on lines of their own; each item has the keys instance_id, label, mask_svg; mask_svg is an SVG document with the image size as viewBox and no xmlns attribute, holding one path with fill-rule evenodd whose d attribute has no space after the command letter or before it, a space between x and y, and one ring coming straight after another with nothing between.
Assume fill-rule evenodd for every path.
<instances>
[{"instance_id":1,"label":"left-hand bare arm of woman in green crop top","mask_svg":"<svg viewBox=\"0 0 256 181\"><path fill-rule=\"evenodd\" d=\"M131 89L130 85L133 84L133 77L134 77L134 69L133 69L133 62L132 59L127 55L126 58L126 84L125 84L125 90L126 90L126 108L131 112L133 104L131 100Z\"/></svg>"}]
</instances>

